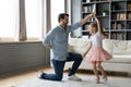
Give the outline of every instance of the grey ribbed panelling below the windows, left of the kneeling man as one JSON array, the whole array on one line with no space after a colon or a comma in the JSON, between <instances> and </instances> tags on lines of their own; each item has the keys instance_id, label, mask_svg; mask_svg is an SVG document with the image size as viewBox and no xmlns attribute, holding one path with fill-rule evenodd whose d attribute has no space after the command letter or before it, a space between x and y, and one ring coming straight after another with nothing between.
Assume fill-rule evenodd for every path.
<instances>
[{"instance_id":1,"label":"grey ribbed panelling below the windows, left of the kneeling man","mask_svg":"<svg viewBox=\"0 0 131 87\"><path fill-rule=\"evenodd\" d=\"M41 41L0 44L0 75L36 66L49 66L49 50Z\"/></svg>"}]
</instances>

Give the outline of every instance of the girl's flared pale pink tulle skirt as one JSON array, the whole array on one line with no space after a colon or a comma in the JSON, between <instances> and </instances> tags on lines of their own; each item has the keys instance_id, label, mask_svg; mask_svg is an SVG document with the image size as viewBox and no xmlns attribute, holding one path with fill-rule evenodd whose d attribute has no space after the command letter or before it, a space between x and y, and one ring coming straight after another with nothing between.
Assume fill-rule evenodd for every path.
<instances>
[{"instance_id":1,"label":"girl's flared pale pink tulle skirt","mask_svg":"<svg viewBox=\"0 0 131 87\"><path fill-rule=\"evenodd\" d=\"M93 47L90 53L85 55L84 60L88 62L94 62L94 61L106 61L111 58L112 55L109 54L106 50L104 50L104 48Z\"/></svg>"}]
</instances>

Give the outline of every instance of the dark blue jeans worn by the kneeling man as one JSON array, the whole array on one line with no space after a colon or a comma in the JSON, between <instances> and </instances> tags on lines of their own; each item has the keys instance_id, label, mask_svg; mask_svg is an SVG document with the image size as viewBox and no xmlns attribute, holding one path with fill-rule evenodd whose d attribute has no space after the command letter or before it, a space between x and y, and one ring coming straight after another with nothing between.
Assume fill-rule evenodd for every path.
<instances>
[{"instance_id":1,"label":"dark blue jeans worn by the kneeling man","mask_svg":"<svg viewBox=\"0 0 131 87\"><path fill-rule=\"evenodd\" d=\"M50 79L50 80L61 80L63 77L63 69L64 64L68 61L74 61L71 70L69 71L69 76L75 74L78 67L80 66L82 62L82 55L79 53L72 53L69 52L69 57L67 58L67 61L57 61L57 60L51 60L55 74L44 74L41 76L43 79Z\"/></svg>"}]
</instances>

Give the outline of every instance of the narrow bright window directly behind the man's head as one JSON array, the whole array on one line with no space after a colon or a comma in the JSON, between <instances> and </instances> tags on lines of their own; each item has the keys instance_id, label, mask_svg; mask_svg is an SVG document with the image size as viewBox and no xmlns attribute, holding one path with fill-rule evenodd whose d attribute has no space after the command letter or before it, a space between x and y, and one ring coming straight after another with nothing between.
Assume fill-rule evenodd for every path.
<instances>
[{"instance_id":1,"label":"narrow bright window directly behind the man's head","mask_svg":"<svg viewBox=\"0 0 131 87\"><path fill-rule=\"evenodd\" d=\"M51 0L51 28L58 25L59 13L64 13L64 0Z\"/></svg>"}]
</instances>

